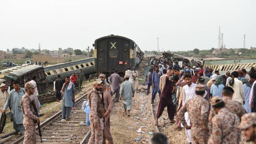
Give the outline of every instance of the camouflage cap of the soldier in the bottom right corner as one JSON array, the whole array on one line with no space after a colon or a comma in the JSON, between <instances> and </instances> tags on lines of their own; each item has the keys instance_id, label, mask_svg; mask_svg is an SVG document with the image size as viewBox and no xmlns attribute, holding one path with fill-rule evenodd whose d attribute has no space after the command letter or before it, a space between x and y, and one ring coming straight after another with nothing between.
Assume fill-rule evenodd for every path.
<instances>
[{"instance_id":1,"label":"camouflage cap of the soldier in the bottom right corner","mask_svg":"<svg viewBox=\"0 0 256 144\"><path fill-rule=\"evenodd\" d=\"M248 114L244 114L241 117L241 123L238 126L238 128L240 129L246 129L249 128L250 126L256 124L256 113L252 112L252 113L248 113Z\"/></svg>"}]
</instances>

